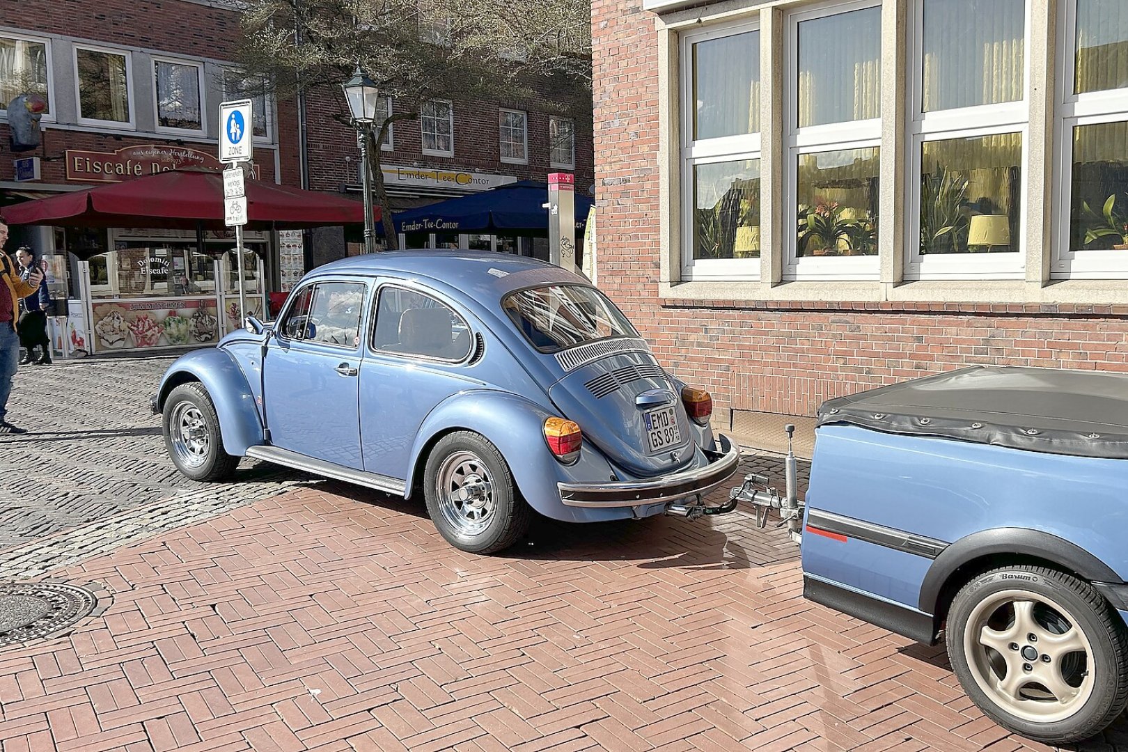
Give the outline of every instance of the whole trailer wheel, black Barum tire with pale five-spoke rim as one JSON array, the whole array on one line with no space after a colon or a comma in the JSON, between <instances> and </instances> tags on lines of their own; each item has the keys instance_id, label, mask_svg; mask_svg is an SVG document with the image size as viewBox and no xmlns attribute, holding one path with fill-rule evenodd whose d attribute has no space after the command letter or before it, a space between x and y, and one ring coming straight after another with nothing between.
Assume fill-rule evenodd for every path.
<instances>
[{"instance_id":1,"label":"whole trailer wheel, black Barum tire with pale five-spoke rim","mask_svg":"<svg viewBox=\"0 0 1128 752\"><path fill-rule=\"evenodd\" d=\"M1091 584L1056 569L976 576L952 601L946 642L971 700L1028 738L1079 742L1128 702L1128 629Z\"/></svg>"}]
</instances>

